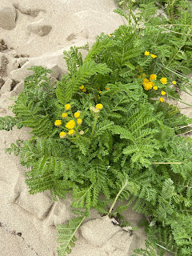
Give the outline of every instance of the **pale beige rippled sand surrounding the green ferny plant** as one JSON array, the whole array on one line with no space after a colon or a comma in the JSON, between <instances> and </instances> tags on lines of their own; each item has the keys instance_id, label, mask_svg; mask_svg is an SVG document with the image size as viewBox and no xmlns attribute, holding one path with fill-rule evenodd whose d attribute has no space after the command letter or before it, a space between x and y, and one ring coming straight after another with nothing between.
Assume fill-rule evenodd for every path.
<instances>
[{"instance_id":1,"label":"pale beige rippled sand surrounding the green ferny plant","mask_svg":"<svg viewBox=\"0 0 192 256\"><path fill-rule=\"evenodd\" d=\"M22 90L30 66L44 66L60 79L66 73L63 50L90 46L98 34L110 34L122 18L114 14L114 0L0 0L0 115ZM191 104L191 98L182 95ZM184 114L192 109L179 103ZM30 138L29 130L0 131L0 256L53 256L56 228L71 218L70 197L54 202L50 192L28 194L19 158L5 153L16 139ZM127 210L126 219L138 225L142 214ZM78 231L71 256L127 256L144 246L142 229L130 235L109 218L92 211Z\"/></svg>"}]
</instances>

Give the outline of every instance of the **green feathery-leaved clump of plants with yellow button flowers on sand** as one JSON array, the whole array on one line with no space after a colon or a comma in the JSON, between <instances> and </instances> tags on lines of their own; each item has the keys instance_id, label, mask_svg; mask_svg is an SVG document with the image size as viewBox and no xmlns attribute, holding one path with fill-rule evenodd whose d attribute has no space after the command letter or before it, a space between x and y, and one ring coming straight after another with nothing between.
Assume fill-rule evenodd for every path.
<instances>
[{"instance_id":1,"label":"green feathery-leaved clump of plants with yellow button flowers on sand","mask_svg":"<svg viewBox=\"0 0 192 256\"><path fill-rule=\"evenodd\" d=\"M136 3L129 1L131 8ZM73 196L78 217L57 227L58 255L70 253L90 208L114 216L130 204L148 219L149 241L136 254L155 255L154 249L158 255L192 254L192 141L182 136L191 119L167 102L181 101L178 89L192 91L186 78L187 4L178 4L170 19L154 18L154 1L139 5L138 17L133 9L128 16L115 10L126 25L98 36L84 60L81 49L88 46L65 51L69 72L57 86L47 78L50 70L32 67L34 74L12 107L14 118L0 118L4 130L31 128L30 140L7 149L30 168L30 194L50 190L54 200ZM118 200L123 203L116 207Z\"/></svg>"}]
</instances>

